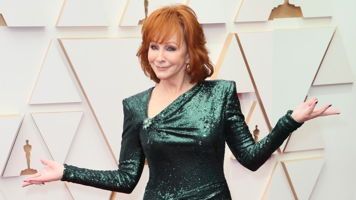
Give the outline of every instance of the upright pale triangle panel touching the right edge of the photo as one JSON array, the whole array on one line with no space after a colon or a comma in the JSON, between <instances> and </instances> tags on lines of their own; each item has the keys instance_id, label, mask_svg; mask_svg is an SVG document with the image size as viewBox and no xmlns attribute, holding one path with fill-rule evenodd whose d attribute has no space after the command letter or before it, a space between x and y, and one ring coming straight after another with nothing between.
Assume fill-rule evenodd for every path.
<instances>
[{"instance_id":1,"label":"upright pale triangle panel touching the right edge of the photo","mask_svg":"<svg viewBox=\"0 0 356 200\"><path fill-rule=\"evenodd\" d=\"M340 30L336 27L334 37L330 42L328 51L326 51L313 85L353 82L354 76L349 58L347 57Z\"/></svg>"}]
</instances>

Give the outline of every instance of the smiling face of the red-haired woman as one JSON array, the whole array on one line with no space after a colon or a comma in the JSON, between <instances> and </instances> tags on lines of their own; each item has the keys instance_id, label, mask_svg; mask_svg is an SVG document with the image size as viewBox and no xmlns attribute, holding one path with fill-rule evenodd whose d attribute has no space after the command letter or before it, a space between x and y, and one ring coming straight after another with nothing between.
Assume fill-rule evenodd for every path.
<instances>
[{"instance_id":1,"label":"smiling face of the red-haired woman","mask_svg":"<svg viewBox=\"0 0 356 200\"><path fill-rule=\"evenodd\" d=\"M179 48L176 35L166 43L151 42L148 61L157 78L171 81L183 79L189 63L187 43L183 40Z\"/></svg>"}]
</instances>

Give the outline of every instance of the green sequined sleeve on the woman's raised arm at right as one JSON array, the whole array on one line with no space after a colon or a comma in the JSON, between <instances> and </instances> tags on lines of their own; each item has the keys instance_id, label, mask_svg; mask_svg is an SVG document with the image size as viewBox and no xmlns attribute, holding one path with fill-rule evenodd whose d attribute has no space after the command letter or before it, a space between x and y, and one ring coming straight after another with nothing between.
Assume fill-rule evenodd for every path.
<instances>
[{"instance_id":1,"label":"green sequined sleeve on the woman's raised arm at right","mask_svg":"<svg viewBox=\"0 0 356 200\"><path fill-rule=\"evenodd\" d=\"M289 134L303 123L295 121L290 116L293 111L288 111L266 137L255 142L245 123L245 117L241 113L235 82L231 82L228 93L224 123L226 143L244 167L256 171L282 145Z\"/></svg>"}]
</instances>

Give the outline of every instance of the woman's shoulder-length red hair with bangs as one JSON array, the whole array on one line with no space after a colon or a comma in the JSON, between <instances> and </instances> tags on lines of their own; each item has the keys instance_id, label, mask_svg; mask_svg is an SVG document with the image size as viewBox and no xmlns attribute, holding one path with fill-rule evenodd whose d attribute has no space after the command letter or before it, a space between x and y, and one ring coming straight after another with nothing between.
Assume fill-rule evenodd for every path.
<instances>
[{"instance_id":1,"label":"woman's shoulder-length red hair with bangs","mask_svg":"<svg viewBox=\"0 0 356 200\"><path fill-rule=\"evenodd\" d=\"M189 52L187 73L190 75L190 83L201 83L213 75L214 65L208 56L210 52L205 46L206 39L203 28L197 20L197 15L190 7L176 4L153 11L143 23L141 33L142 43L137 51L137 56L145 75L156 83L159 83L161 79L157 78L148 61L148 48L152 41L165 43L174 34L176 34L179 44L182 43L182 39L187 43Z\"/></svg>"}]
</instances>

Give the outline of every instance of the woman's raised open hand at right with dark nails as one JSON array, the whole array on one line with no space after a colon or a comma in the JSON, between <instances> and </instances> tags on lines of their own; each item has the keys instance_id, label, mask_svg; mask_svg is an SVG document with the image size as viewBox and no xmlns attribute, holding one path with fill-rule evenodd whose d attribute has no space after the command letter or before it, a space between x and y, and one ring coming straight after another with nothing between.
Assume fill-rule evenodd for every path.
<instances>
[{"instance_id":1,"label":"woman's raised open hand at right with dark nails","mask_svg":"<svg viewBox=\"0 0 356 200\"><path fill-rule=\"evenodd\" d=\"M315 117L340 114L339 110L329 109L331 104L326 104L324 107L316 108L315 106L317 103L318 99L315 97L309 101L305 101L293 110L291 116L295 121L302 123L314 119Z\"/></svg>"}]
</instances>

